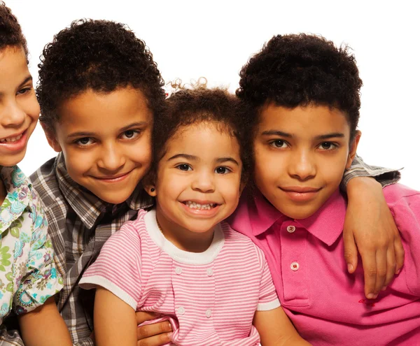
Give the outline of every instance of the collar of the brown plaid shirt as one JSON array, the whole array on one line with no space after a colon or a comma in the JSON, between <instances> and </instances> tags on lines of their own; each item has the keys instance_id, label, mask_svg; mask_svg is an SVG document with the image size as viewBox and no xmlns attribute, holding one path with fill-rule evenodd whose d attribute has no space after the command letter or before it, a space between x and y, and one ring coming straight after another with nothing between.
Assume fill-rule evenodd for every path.
<instances>
[{"instance_id":1,"label":"collar of the brown plaid shirt","mask_svg":"<svg viewBox=\"0 0 420 346\"><path fill-rule=\"evenodd\" d=\"M82 220L87 229L92 229L97 219L105 212L108 207L109 211L114 211L118 208L117 205L106 203L99 199L96 195L92 194L89 190L85 189L81 185L78 185L73 179L70 178L69 173L66 169L64 157L60 152L57 156L56 174L59 189L61 190L64 198L69 203L71 208L76 212L76 215ZM147 208L153 204L153 200L141 187L141 184L134 190L132 195L125 201L126 208L132 210L139 210L141 208Z\"/></svg>"}]
</instances>

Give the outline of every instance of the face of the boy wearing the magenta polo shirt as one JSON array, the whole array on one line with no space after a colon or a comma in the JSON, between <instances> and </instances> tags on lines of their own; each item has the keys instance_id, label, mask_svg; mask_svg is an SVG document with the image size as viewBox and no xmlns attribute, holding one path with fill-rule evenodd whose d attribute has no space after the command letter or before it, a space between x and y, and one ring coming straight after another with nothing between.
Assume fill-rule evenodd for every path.
<instances>
[{"instance_id":1,"label":"face of the boy wearing the magenta polo shirt","mask_svg":"<svg viewBox=\"0 0 420 346\"><path fill-rule=\"evenodd\" d=\"M336 108L269 104L254 138L255 183L284 215L309 217L339 187L359 138L349 147L349 122Z\"/></svg>"}]
</instances>

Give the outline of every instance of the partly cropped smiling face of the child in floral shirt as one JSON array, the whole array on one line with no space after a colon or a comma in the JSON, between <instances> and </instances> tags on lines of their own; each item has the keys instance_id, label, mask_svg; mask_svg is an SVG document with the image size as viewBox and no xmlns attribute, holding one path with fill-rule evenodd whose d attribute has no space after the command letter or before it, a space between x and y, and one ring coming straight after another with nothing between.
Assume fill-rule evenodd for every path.
<instances>
[{"instance_id":1,"label":"partly cropped smiling face of the child in floral shirt","mask_svg":"<svg viewBox=\"0 0 420 346\"><path fill-rule=\"evenodd\" d=\"M38 117L25 51L7 47L0 51L0 166L22 161Z\"/></svg>"}]
</instances>

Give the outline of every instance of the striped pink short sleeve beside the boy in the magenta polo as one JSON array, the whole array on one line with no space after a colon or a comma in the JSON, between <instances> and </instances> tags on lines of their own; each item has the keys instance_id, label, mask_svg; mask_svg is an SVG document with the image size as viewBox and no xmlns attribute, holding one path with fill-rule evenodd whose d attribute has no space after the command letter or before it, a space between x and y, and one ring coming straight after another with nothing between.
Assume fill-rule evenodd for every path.
<instances>
[{"instance_id":1,"label":"striped pink short sleeve beside the boy in the magenta polo","mask_svg":"<svg viewBox=\"0 0 420 346\"><path fill-rule=\"evenodd\" d=\"M272 276L269 273L267 260L265 259L265 256L260 249L258 249L258 256L260 257L260 261L262 261L262 277L257 310L266 311L279 308L280 301L276 294Z\"/></svg>"}]
</instances>

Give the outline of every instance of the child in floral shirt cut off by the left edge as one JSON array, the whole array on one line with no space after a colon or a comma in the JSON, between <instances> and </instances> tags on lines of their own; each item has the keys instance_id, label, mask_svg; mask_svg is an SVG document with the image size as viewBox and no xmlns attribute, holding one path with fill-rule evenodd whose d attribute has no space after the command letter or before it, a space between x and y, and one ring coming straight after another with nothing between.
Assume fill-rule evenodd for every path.
<instances>
[{"instance_id":1,"label":"child in floral shirt cut off by the left edge","mask_svg":"<svg viewBox=\"0 0 420 346\"><path fill-rule=\"evenodd\" d=\"M15 166L25 156L38 115L25 38L0 2L0 324L14 310L25 345L71 345L53 298L62 277L41 201Z\"/></svg>"}]
</instances>

